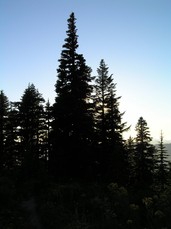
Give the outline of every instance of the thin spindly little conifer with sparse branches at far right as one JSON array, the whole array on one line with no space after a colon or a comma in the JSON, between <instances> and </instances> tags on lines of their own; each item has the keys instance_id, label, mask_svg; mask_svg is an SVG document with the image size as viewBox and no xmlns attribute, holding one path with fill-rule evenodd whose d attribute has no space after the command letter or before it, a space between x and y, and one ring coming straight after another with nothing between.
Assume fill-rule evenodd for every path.
<instances>
[{"instance_id":1,"label":"thin spindly little conifer with sparse branches at far right","mask_svg":"<svg viewBox=\"0 0 171 229\"><path fill-rule=\"evenodd\" d=\"M160 190L163 191L168 181L169 161L166 147L163 142L162 132L157 152L157 181L159 183Z\"/></svg>"}]
</instances>

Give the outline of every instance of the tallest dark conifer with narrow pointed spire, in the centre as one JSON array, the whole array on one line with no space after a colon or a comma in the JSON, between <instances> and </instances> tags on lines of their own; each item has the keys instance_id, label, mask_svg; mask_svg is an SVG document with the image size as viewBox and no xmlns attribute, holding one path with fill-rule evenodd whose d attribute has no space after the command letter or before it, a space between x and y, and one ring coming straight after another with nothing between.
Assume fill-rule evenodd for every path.
<instances>
[{"instance_id":1,"label":"tallest dark conifer with narrow pointed spire, in the centre","mask_svg":"<svg viewBox=\"0 0 171 229\"><path fill-rule=\"evenodd\" d=\"M58 172L62 170L64 176L65 172L70 176L74 170L78 176L78 167L83 166L85 151L91 142L91 69L86 65L83 55L77 53L77 38L76 18L74 13L71 13L67 38L57 69L53 123L52 166L55 170L57 167Z\"/></svg>"}]
</instances>

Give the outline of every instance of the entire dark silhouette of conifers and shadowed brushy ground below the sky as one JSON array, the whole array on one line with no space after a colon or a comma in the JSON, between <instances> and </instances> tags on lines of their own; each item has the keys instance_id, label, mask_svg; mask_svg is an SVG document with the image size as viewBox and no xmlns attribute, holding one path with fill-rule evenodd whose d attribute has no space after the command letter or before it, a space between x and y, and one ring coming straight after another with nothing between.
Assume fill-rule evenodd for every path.
<instances>
[{"instance_id":1,"label":"entire dark silhouette of conifers and shadowed brushy ground below the sky","mask_svg":"<svg viewBox=\"0 0 171 229\"><path fill-rule=\"evenodd\" d=\"M171 228L171 169L163 134L136 137L105 61L92 76L68 19L54 104L33 84L21 100L0 92L0 228Z\"/></svg>"}]
</instances>

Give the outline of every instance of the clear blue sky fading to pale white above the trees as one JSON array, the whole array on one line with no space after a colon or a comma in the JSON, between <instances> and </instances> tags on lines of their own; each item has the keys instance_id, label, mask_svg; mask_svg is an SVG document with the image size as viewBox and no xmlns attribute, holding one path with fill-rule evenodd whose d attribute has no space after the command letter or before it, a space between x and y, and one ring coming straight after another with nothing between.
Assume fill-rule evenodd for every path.
<instances>
[{"instance_id":1,"label":"clear blue sky fading to pale white above the trees","mask_svg":"<svg viewBox=\"0 0 171 229\"><path fill-rule=\"evenodd\" d=\"M171 142L170 0L0 0L0 90L19 101L34 83L54 101L56 68L71 12L79 53L93 75L104 59L134 136L140 116Z\"/></svg>"}]
</instances>

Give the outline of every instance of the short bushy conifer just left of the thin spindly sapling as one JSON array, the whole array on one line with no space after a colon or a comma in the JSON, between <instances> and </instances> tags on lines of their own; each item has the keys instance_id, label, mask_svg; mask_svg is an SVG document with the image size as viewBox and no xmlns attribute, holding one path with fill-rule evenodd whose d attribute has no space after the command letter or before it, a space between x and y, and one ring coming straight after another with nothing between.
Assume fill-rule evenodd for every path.
<instances>
[{"instance_id":1,"label":"short bushy conifer just left of the thin spindly sapling","mask_svg":"<svg viewBox=\"0 0 171 229\"><path fill-rule=\"evenodd\" d=\"M153 182L155 148L150 144L152 138L143 117L139 118L136 131L136 184L138 187L148 188Z\"/></svg>"}]
</instances>

